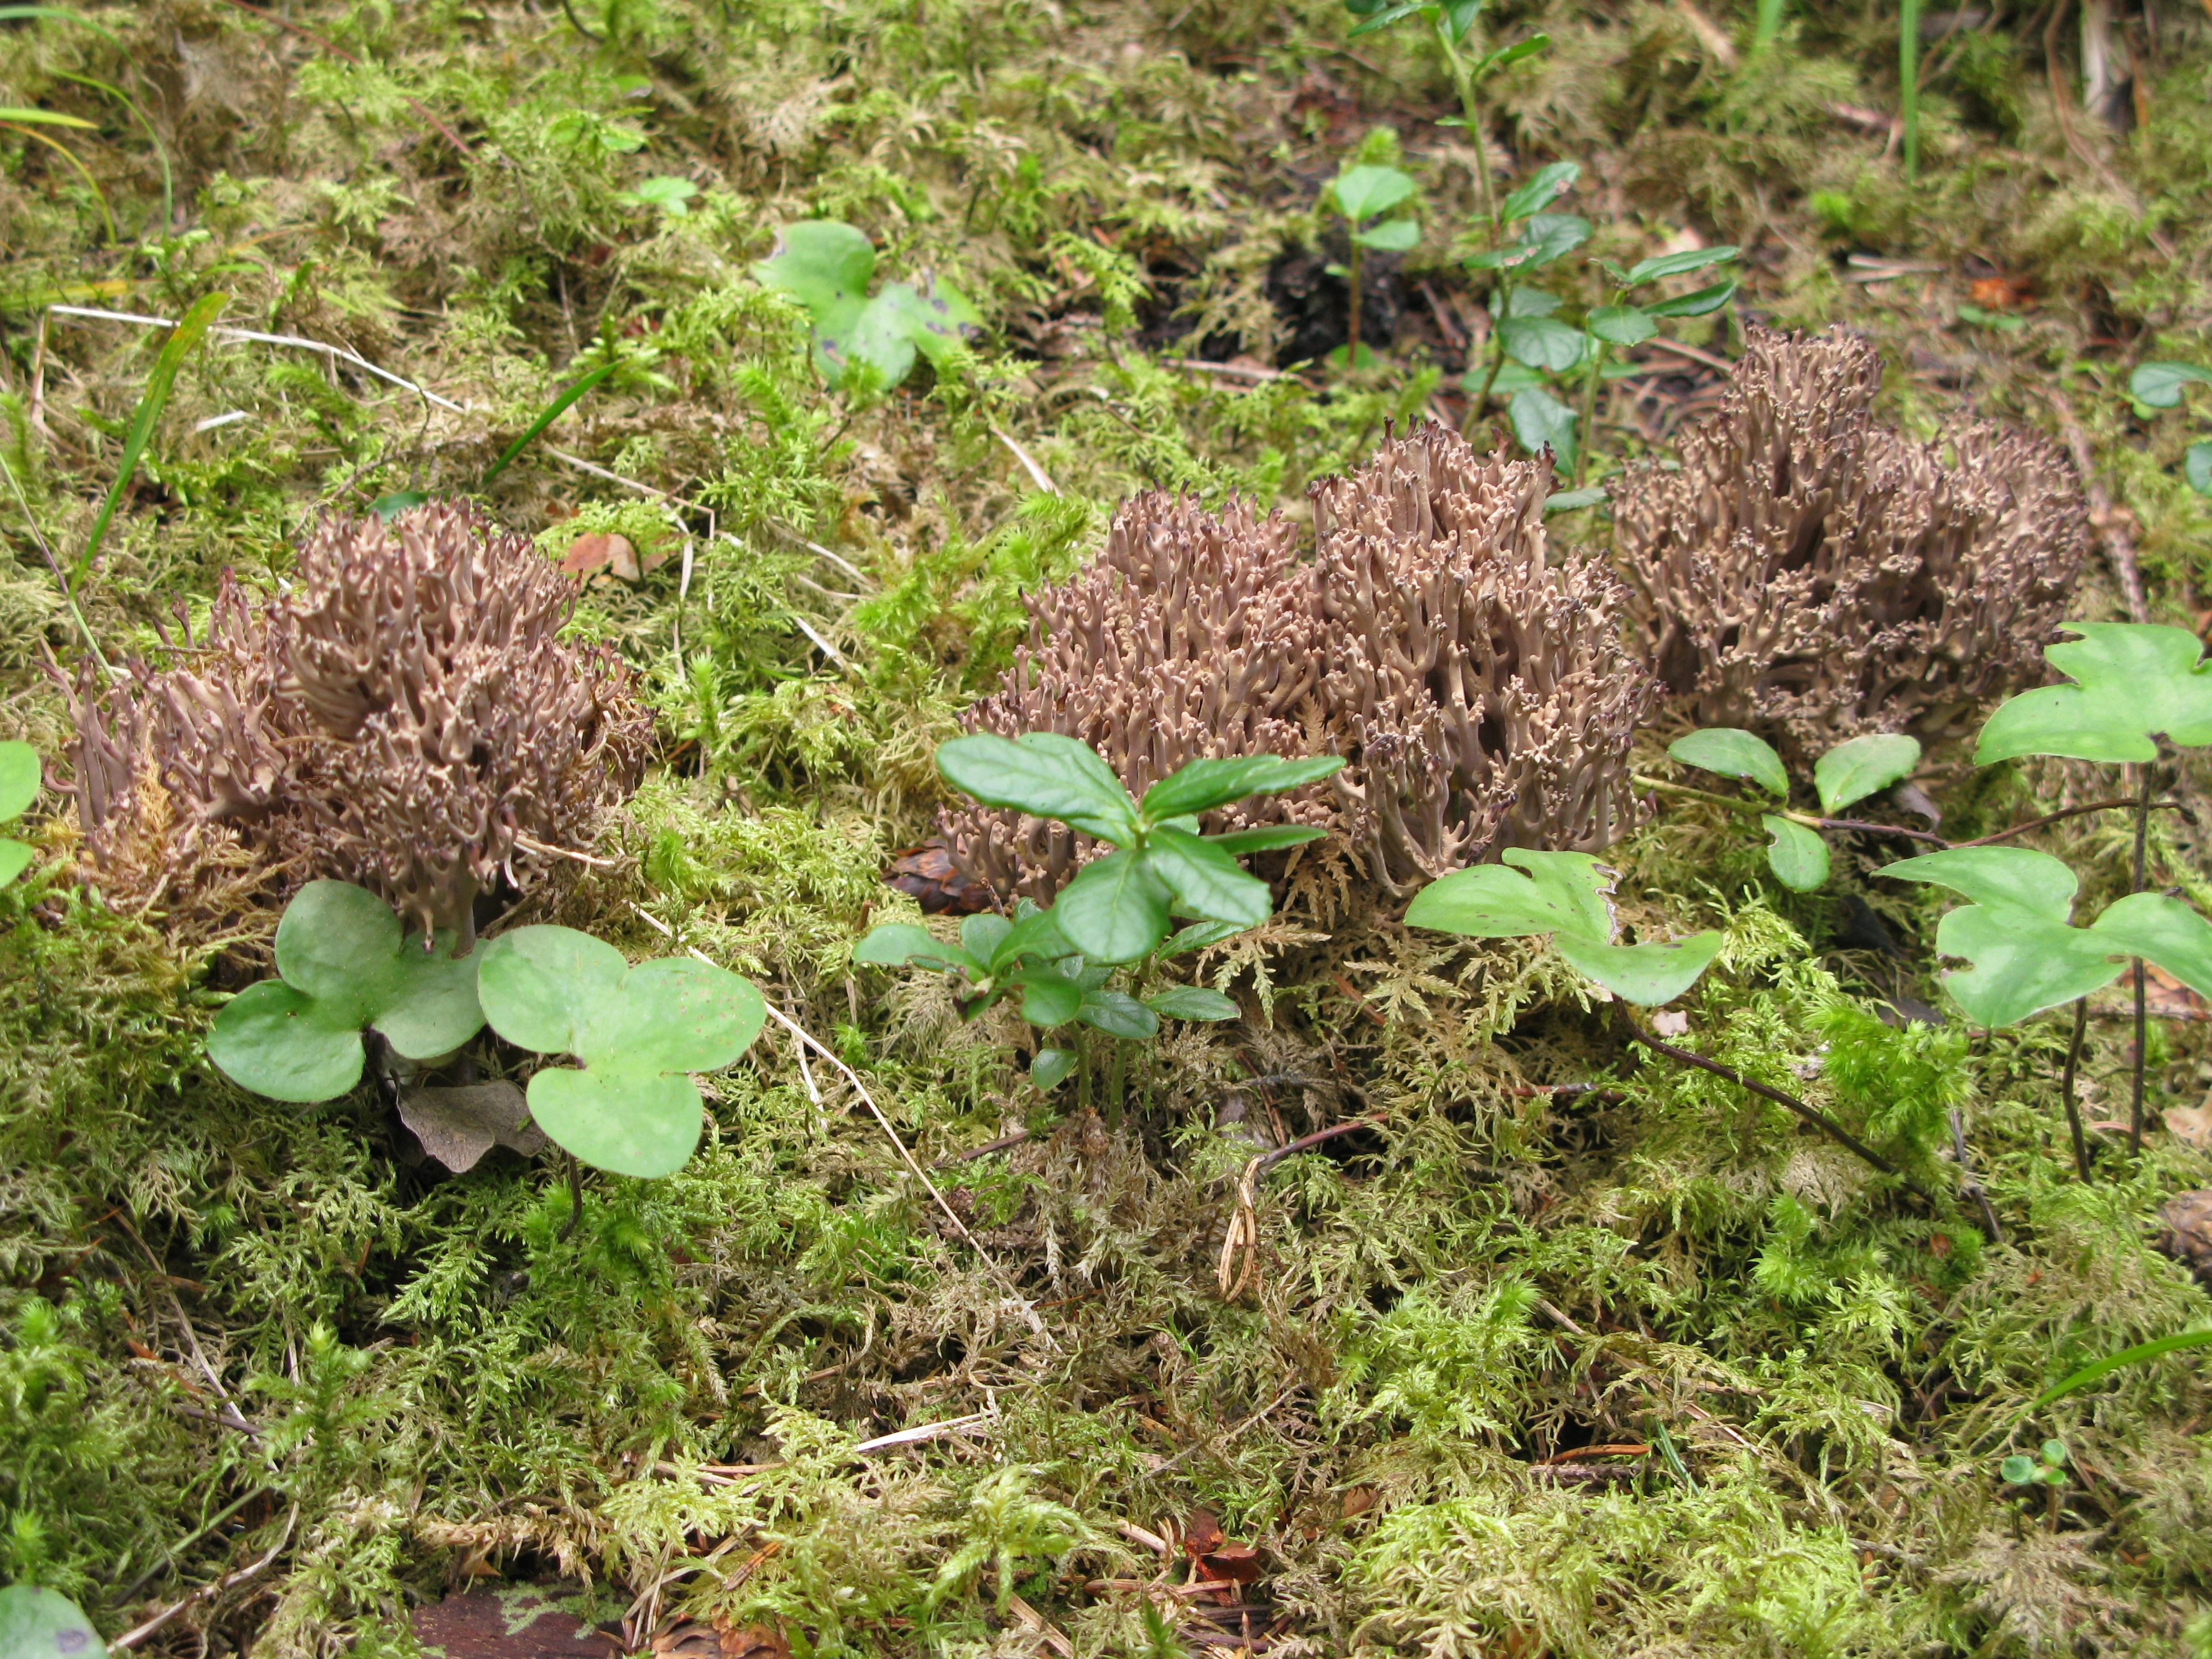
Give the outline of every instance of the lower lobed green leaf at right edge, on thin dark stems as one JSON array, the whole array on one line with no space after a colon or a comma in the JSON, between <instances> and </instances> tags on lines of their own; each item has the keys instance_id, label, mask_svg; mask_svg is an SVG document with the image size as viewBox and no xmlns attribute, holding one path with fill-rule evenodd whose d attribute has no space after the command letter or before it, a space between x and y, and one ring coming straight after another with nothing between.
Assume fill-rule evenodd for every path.
<instances>
[{"instance_id":1,"label":"lower lobed green leaf at right edge, on thin dark stems","mask_svg":"<svg viewBox=\"0 0 2212 1659\"><path fill-rule=\"evenodd\" d=\"M2086 998L2121 975L2126 958L2157 962L2192 991L2212 995L2212 922L2163 894L2130 894L2088 927L2073 927L2075 874L2028 847L1949 847L1882 867L1964 894L1969 905L1936 927L1936 949L1971 969L1944 989L1984 1026Z\"/></svg>"}]
</instances>

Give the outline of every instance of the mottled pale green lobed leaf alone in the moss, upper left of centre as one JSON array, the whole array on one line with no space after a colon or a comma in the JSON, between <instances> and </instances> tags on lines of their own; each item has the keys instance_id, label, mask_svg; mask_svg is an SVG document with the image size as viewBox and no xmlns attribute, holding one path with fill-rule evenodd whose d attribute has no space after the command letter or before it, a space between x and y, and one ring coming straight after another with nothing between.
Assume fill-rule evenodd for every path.
<instances>
[{"instance_id":1,"label":"mottled pale green lobed leaf alone in the moss, upper left of centre","mask_svg":"<svg viewBox=\"0 0 2212 1659\"><path fill-rule=\"evenodd\" d=\"M814 319L814 361L836 387L896 387L916 354L945 369L982 325L975 305L947 281L885 283L876 294L876 246L836 219L785 226L776 250L752 274L805 305Z\"/></svg>"}]
</instances>

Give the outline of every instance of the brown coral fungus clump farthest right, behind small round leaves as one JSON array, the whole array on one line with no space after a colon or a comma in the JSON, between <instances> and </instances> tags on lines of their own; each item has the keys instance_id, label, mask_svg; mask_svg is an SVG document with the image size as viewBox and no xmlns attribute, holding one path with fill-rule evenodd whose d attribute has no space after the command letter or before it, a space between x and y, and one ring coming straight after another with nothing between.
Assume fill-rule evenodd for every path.
<instances>
[{"instance_id":1,"label":"brown coral fungus clump farthest right, behind small round leaves","mask_svg":"<svg viewBox=\"0 0 2212 1659\"><path fill-rule=\"evenodd\" d=\"M1913 442L1874 420L1880 378L1840 330L1752 330L1681 467L1615 482L1648 661L1701 723L1940 737L2044 677L2088 535L2073 471L1980 422Z\"/></svg>"}]
</instances>

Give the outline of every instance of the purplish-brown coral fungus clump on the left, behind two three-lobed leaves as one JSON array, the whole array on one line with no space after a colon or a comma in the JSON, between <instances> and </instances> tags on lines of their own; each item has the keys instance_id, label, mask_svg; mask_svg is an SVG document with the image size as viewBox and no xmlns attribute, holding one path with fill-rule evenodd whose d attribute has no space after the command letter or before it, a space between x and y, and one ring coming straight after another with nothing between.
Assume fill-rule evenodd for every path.
<instances>
[{"instance_id":1,"label":"purplish-brown coral fungus clump on the left, behind two three-lobed leaves","mask_svg":"<svg viewBox=\"0 0 2212 1659\"><path fill-rule=\"evenodd\" d=\"M487 885L591 845L650 714L611 653L557 639L568 584L473 507L325 520L294 582L254 611L226 573L173 666L80 681L93 858L144 867L159 816L168 872L241 845L288 887L358 880L469 940Z\"/></svg>"}]
</instances>

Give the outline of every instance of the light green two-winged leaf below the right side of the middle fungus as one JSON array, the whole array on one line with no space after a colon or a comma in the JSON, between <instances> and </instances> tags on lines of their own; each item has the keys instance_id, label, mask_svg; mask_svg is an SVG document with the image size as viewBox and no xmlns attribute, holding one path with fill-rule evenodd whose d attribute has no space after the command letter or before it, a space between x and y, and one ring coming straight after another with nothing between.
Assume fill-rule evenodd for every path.
<instances>
[{"instance_id":1,"label":"light green two-winged leaf below the right side of the middle fungus","mask_svg":"<svg viewBox=\"0 0 2212 1659\"><path fill-rule=\"evenodd\" d=\"M1467 938L1551 933L1553 949L1571 969L1639 1006L1679 998L1721 951L1719 933L1692 933L1670 945L1615 945L1606 867L1586 852L1506 847L1504 860L1511 869L1475 865L1440 876L1413 896L1405 920Z\"/></svg>"}]
</instances>

